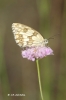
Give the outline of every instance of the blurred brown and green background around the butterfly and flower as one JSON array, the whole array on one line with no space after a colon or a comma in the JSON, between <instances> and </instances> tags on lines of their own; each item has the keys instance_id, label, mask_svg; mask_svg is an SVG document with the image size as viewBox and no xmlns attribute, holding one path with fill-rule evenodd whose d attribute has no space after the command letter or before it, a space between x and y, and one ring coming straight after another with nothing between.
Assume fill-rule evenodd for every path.
<instances>
[{"instance_id":1,"label":"blurred brown and green background around the butterfly and flower","mask_svg":"<svg viewBox=\"0 0 66 100\"><path fill-rule=\"evenodd\" d=\"M23 59L11 25L28 25L54 56L39 61L44 100L66 100L66 0L0 0L0 100L41 100L36 63ZM8 96L25 94L25 96Z\"/></svg>"}]
</instances>

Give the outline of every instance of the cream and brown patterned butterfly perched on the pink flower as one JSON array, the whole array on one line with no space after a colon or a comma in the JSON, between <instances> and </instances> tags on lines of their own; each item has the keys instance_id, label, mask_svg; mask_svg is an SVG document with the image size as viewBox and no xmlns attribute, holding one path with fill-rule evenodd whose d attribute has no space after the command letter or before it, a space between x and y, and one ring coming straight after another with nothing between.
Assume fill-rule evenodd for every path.
<instances>
[{"instance_id":1,"label":"cream and brown patterned butterfly perched on the pink flower","mask_svg":"<svg viewBox=\"0 0 66 100\"><path fill-rule=\"evenodd\" d=\"M29 26L13 23L12 31L15 41L20 47L36 47L48 44L47 39L44 39L38 31Z\"/></svg>"}]
</instances>

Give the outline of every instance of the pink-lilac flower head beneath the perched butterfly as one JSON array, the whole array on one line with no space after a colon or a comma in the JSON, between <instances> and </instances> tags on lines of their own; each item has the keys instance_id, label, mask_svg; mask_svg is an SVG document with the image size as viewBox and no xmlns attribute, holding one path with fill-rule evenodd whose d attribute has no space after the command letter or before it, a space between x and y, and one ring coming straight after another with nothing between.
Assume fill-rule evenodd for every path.
<instances>
[{"instance_id":1,"label":"pink-lilac flower head beneath the perched butterfly","mask_svg":"<svg viewBox=\"0 0 66 100\"><path fill-rule=\"evenodd\" d=\"M50 47L33 47L22 51L22 57L28 60L35 61L35 59L53 55L53 50Z\"/></svg>"}]
</instances>

